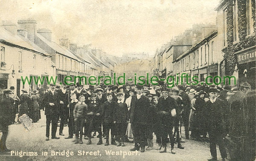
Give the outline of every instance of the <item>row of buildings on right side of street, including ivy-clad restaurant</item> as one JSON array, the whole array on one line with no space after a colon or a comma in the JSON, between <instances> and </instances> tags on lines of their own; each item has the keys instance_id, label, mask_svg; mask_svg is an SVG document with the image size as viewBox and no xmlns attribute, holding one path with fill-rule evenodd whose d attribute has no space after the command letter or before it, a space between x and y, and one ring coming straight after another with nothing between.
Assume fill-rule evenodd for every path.
<instances>
[{"instance_id":1,"label":"row of buildings on right side of street, including ivy-clad restaurant","mask_svg":"<svg viewBox=\"0 0 256 161\"><path fill-rule=\"evenodd\" d=\"M198 76L199 82L220 76L222 85L228 81L224 76L235 76L231 85L247 82L255 89L255 0L221 0L215 10L216 25L192 25L156 51L151 75L173 76L176 82L182 73Z\"/></svg>"}]
</instances>

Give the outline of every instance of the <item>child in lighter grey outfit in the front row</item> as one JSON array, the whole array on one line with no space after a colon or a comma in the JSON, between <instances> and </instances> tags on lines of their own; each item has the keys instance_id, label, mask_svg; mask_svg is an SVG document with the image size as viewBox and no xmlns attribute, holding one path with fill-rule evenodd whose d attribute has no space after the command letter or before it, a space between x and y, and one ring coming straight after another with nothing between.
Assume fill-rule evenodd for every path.
<instances>
[{"instance_id":1,"label":"child in lighter grey outfit in the front row","mask_svg":"<svg viewBox=\"0 0 256 161\"><path fill-rule=\"evenodd\" d=\"M85 97L79 97L80 102L78 102L74 108L73 116L75 121L75 129L76 129L76 142L75 144L83 144L83 126L85 122L85 116L87 112L87 105L84 103ZM80 140L78 140L80 131Z\"/></svg>"}]
</instances>

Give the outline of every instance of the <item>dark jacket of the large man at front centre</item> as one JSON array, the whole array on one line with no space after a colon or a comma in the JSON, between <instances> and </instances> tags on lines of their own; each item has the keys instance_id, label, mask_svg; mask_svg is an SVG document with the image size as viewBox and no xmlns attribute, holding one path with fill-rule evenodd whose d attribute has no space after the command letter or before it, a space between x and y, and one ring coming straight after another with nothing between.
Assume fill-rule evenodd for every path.
<instances>
[{"instance_id":1,"label":"dark jacket of the large man at front centre","mask_svg":"<svg viewBox=\"0 0 256 161\"><path fill-rule=\"evenodd\" d=\"M137 99L137 95L132 96L130 123L149 124L149 107L150 103L146 96L142 95L140 99Z\"/></svg>"}]
</instances>

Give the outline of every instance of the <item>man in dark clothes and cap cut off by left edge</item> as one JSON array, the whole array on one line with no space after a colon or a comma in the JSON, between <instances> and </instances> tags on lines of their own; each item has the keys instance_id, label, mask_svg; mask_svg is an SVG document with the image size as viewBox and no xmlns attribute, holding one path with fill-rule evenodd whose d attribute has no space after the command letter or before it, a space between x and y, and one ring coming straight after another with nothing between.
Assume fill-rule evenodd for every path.
<instances>
[{"instance_id":1,"label":"man in dark clothes and cap cut off by left edge","mask_svg":"<svg viewBox=\"0 0 256 161\"><path fill-rule=\"evenodd\" d=\"M6 138L8 136L8 126L12 124L12 109L14 107L14 100L12 99L12 90L3 90L3 98L0 100L0 127L2 130L2 137L0 140L0 152L10 152L6 147Z\"/></svg>"}]
</instances>

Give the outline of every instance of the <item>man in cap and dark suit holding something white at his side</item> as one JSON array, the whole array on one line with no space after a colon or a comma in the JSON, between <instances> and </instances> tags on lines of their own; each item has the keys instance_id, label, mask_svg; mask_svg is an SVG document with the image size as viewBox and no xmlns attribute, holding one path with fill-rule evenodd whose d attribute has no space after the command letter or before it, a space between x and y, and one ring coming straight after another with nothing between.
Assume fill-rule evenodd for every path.
<instances>
[{"instance_id":1,"label":"man in cap and dark suit holding something white at his side","mask_svg":"<svg viewBox=\"0 0 256 161\"><path fill-rule=\"evenodd\" d=\"M163 149L160 153L166 153L166 146L168 142L168 134L170 138L171 144L171 153L175 154L174 150L174 136L172 132L172 128L174 126L175 116L176 116L176 108L178 107L177 102L174 98L169 96L169 89L162 88L161 92L163 96L161 96L158 100L157 104L157 115L161 119L160 126L161 132L160 136L162 137Z\"/></svg>"}]
</instances>

